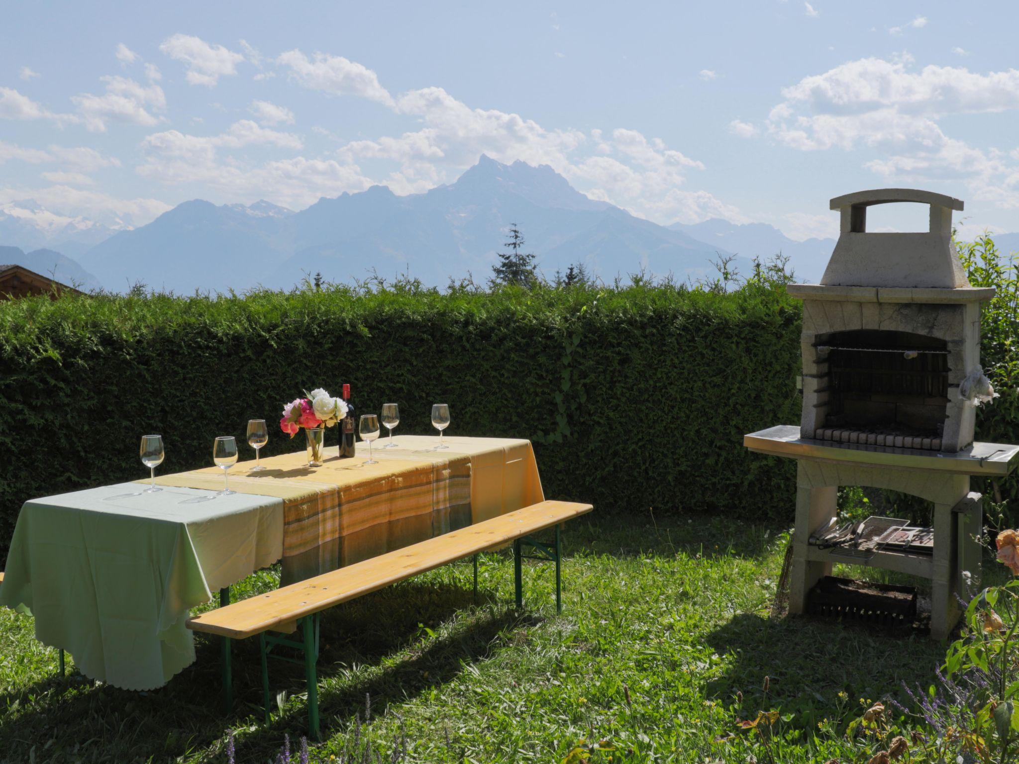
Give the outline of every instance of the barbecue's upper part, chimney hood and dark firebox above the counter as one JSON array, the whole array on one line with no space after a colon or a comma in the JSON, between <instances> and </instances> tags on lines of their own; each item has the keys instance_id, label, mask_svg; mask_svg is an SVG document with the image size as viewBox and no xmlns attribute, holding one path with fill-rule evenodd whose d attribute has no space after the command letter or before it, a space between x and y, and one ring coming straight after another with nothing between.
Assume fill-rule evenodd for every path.
<instances>
[{"instance_id":1,"label":"barbecue's upper part, chimney hood and dark firebox above the counter","mask_svg":"<svg viewBox=\"0 0 1019 764\"><path fill-rule=\"evenodd\" d=\"M922 233L868 233L867 208L930 206ZM975 410L959 388L980 373L980 302L952 245L958 199L911 188L836 197L839 241L803 301L801 435L954 453L973 442Z\"/></svg>"}]
</instances>

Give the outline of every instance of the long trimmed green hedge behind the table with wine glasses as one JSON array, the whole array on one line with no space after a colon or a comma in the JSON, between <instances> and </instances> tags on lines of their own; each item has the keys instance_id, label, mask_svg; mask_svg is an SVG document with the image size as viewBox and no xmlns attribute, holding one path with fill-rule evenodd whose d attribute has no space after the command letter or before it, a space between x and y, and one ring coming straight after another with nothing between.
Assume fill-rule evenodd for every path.
<instances>
[{"instance_id":1,"label":"long trimmed green hedge behind the table with wine glasses","mask_svg":"<svg viewBox=\"0 0 1019 764\"><path fill-rule=\"evenodd\" d=\"M0 304L0 556L29 498L210 463L302 388L398 432L535 443L546 494L655 512L788 514L791 465L744 433L799 420L799 305L781 289L421 290L63 297ZM273 427L266 452L292 450ZM335 442L334 431L327 434ZM244 446L247 449L247 446Z\"/></svg>"}]
</instances>

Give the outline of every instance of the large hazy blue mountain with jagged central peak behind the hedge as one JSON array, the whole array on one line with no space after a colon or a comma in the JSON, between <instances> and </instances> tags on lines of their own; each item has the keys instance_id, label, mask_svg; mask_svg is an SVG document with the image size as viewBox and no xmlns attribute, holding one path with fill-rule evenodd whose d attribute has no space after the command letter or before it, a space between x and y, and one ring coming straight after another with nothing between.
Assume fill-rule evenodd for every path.
<instances>
[{"instance_id":1,"label":"large hazy blue mountain with jagged central peak behind the hedge","mask_svg":"<svg viewBox=\"0 0 1019 764\"><path fill-rule=\"evenodd\" d=\"M472 272L483 281L513 222L548 277L583 262L605 280L641 269L697 279L729 249L588 199L550 167L482 156L457 182L408 197L373 186L301 212L186 202L96 245L82 263L110 288L144 281L178 292L289 288L316 272L329 281L409 273L428 284Z\"/></svg>"}]
</instances>

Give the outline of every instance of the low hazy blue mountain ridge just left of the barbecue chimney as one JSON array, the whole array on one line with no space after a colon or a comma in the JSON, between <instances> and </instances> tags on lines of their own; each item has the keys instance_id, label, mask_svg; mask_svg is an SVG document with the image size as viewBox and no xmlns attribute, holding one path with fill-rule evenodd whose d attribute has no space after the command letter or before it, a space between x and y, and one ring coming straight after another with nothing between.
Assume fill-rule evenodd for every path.
<instances>
[{"instance_id":1,"label":"low hazy blue mountain ridge just left of the barbecue chimney","mask_svg":"<svg viewBox=\"0 0 1019 764\"><path fill-rule=\"evenodd\" d=\"M816 284L835 249L834 238L808 238L796 241L767 223L731 223L712 218L702 223L684 225L674 223L672 230L689 233L705 243L717 243L729 252L753 259L768 260L780 252L789 257L789 264L797 280ZM741 273L745 272L741 269Z\"/></svg>"}]
</instances>

